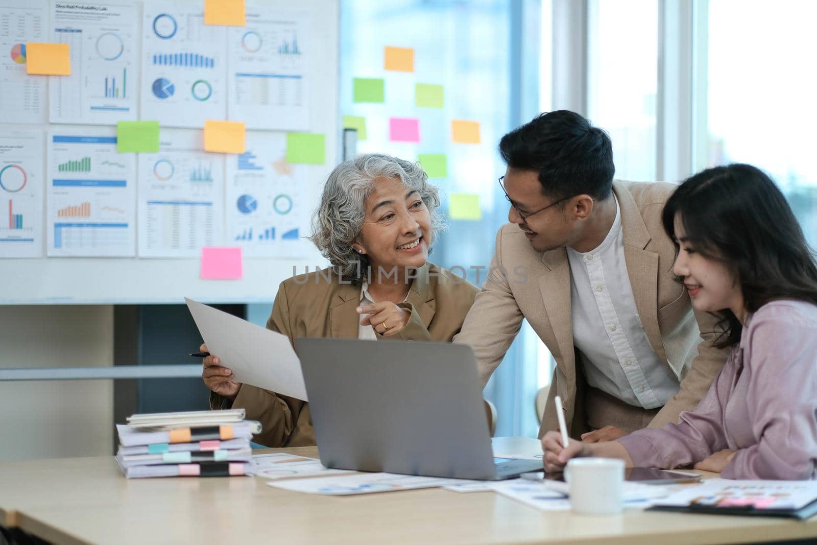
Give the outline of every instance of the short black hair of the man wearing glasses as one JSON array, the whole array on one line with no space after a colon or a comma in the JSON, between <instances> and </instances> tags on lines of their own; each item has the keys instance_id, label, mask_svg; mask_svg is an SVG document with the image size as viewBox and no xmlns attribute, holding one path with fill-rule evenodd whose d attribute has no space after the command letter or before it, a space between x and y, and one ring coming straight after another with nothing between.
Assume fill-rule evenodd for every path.
<instances>
[{"instance_id":1,"label":"short black hair of the man wearing glasses","mask_svg":"<svg viewBox=\"0 0 817 545\"><path fill-rule=\"evenodd\" d=\"M566 199L588 194L604 200L613 190L613 144L607 133L566 109L540 114L499 141L511 168L539 173L542 194Z\"/></svg>"}]
</instances>

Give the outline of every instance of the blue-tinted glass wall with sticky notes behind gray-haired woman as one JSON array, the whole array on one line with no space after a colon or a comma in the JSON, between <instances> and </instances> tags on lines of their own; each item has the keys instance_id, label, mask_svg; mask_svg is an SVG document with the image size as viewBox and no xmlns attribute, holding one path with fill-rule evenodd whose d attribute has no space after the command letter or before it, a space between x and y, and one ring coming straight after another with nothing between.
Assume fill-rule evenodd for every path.
<instances>
[{"instance_id":1,"label":"blue-tinted glass wall with sticky notes behind gray-haired woman","mask_svg":"<svg viewBox=\"0 0 817 545\"><path fill-rule=\"evenodd\" d=\"M523 101L511 96L513 89L525 87L520 57L534 63L534 73L540 58L536 46L520 35L525 25L520 2L350 0L342 2L341 10L341 114L357 118L355 123L364 118L358 153L412 161L426 154L444 156L445 167L433 169L431 181L440 188L449 230L435 244L431 261L462 267L472 283L482 284L497 231L507 222L507 201L497 182L505 172L498 141L518 124L515 108L525 121L538 113L520 112ZM386 69L386 47L412 48L413 71ZM361 101L355 78L382 79L382 99ZM442 86L442 104L417 105L418 83ZM536 104L538 85L532 88L529 103ZM397 141L392 118L417 119L419 136L408 139L417 141ZM454 141L452 122L457 120L479 123L478 143ZM347 118L346 124L354 123ZM534 436L537 431L538 344L525 324L484 392L498 408L498 435ZM549 359L547 351L543 354Z\"/></svg>"}]
</instances>

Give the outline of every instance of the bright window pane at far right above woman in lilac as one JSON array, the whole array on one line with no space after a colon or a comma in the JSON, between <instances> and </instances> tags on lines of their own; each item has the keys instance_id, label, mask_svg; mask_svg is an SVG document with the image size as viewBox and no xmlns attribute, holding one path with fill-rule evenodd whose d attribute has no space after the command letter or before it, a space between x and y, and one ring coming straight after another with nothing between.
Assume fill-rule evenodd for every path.
<instances>
[{"instance_id":1,"label":"bright window pane at far right above woman in lilac","mask_svg":"<svg viewBox=\"0 0 817 545\"><path fill-rule=\"evenodd\" d=\"M786 194L817 247L817 2L710 0L708 166L751 163Z\"/></svg>"}]
</instances>

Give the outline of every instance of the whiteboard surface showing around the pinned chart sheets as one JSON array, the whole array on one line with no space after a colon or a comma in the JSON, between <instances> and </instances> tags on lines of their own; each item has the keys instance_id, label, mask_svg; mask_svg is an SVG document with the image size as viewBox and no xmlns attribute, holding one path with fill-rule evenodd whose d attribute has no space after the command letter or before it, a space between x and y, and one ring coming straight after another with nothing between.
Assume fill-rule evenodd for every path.
<instances>
[{"instance_id":1,"label":"whiteboard surface showing around the pinned chart sheets","mask_svg":"<svg viewBox=\"0 0 817 545\"><path fill-rule=\"evenodd\" d=\"M76 2L82 3L82 2ZM127 0L100 0L88 2L105 5L136 7L139 13L140 32L144 25L143 2ZM203 0L178 2L203 6ZM252 11L248 2L248 13ZM306 169L309 186L305 195L317 207L319 192L328 172L337 163L340 148L341 124L338 115L338 49L339 4L337 0L312 0L301 2L293 8L291 2L281 0L257 0L255 5L275 7L281 10L308 14L310 42L313 54L306 67L310 75L308 132L323 133L326 142L326 162L323 165L298 165ZM51 12L53 2L49 3ZM47 28L51 29L51 21ZM139 41L141 47L141 40ZM141 59L141 51L140 56ZM144 92L144 86L141 91ZM2 100L2 97L0 97ZM0 116L0 122L3 121ZM162 123L162 120L159 119ZM69 125L7 124L0 123L0 134L16 130L42 131L43 142L51 130L70 128ZM85 127L74 125L74 127ZM46 145L47 147L47 145ZM47 154L43 150L47 161ZM42 166L47 172L47 165ZM44 176L43 176L44 177ZM2 195L0 195L2 196ZM45 199L45 197L43 197ZM227 205L227 203L225 203ZM42 226L46 225L43 213ZM301 236L308 233L301 233ZM43 238L43 246L46 238ZM221 244L230 246L230 236L225 234ZM315 270L325 266L319 252L304 244L302 255L297 257L253 257L245 252L243 278L235 280L203 280L199 277L199 259L144 258L144 257L39 257L0 259L0 304L2 305L59 305L59 304L140 304L183 303L184 297L200 302L270 302L275 297L278 284L293 274ZM307 249L308 248L308 249ZM43 255L47 255L45 248Z\"/></svg>"}]
</instances>

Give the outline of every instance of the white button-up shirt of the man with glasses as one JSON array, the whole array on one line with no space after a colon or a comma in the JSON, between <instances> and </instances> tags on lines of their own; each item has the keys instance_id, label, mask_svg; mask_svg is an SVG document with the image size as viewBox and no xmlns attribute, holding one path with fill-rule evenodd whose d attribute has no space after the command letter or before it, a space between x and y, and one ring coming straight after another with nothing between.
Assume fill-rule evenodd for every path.
<instances>
[{"instance_id":1,"label":"white button-up shirt of the man with glasses","mask_svg":"<svg viewBox=\"0 0 817 545\"><path fill-rule=\"evenodd\" d=\"M614 197L615 198L615 197ZM678 380L655 354L632 295L621 211L598 248L567 248L573 340L590 386L644 409L655 409L678 393Z\"/></svg>"}]
</instances>

